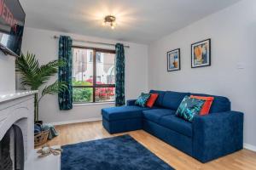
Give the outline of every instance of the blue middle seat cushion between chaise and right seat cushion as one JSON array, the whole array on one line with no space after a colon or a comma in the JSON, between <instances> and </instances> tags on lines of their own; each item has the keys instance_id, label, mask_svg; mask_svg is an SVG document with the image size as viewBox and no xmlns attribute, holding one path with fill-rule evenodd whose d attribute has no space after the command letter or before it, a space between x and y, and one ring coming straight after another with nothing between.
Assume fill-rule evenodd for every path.
<instances>
[{"instance_id":1,"label":"blue middle seat cushion between chaise and right seat cushion","mask_svg":"<svg viewBox=\"0 0 256 170\"><path fill-rule=\"evenodd\" d=\"M151 122L158 123L162 116L174 115L175 111L169 109L152 109L148 111L143 111L144 118Z\"/></svg>"}]
</instances>

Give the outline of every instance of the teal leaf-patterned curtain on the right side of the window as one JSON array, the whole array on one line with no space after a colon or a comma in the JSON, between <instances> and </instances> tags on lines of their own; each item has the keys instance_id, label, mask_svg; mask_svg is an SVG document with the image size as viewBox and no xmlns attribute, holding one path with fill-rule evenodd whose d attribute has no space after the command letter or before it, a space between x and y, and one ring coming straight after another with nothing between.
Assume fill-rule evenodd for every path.
<instances>
[{"instance_id":1,"label":"teal leaf-patterned curtain on the right side of the window","mask_svg":"<svg viewBox=\"0 0 256 170\"><path fill-rule=\"evenodd\" d=\"M115 45L115 105L125 105L125 50L124 45Z\"/></svg>"}]
</instances>

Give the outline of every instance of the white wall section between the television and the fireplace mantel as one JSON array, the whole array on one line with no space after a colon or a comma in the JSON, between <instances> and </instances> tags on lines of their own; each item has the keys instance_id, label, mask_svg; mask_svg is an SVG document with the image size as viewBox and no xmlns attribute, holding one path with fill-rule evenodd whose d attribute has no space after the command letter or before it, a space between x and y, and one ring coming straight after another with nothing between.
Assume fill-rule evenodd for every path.
<instances>
[{"instance_id":1,"label":"white wall section between the television and the fireplace mantel","mask_svg":"<svg viewBox=\"0 0 256 170\"><path fill-rule=\"evenodd\" d=\"M15 90L15 57L0 51L0 92Z\"/></svg>"}]
</instances>

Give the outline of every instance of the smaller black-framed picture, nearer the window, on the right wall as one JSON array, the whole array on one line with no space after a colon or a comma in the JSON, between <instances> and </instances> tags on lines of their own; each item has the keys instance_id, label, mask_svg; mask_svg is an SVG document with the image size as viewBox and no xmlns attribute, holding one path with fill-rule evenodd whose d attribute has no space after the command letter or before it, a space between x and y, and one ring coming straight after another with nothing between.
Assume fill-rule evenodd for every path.
<instances>
[{"instance_id":1,"label":"smaller black-framed picture, nearer the window, on the right wall","mask_svg":"<svg viewBox=\"0 0 256 170\"><path fill-rule=\"evenodd\" d=\"M173 56L173 66L174 68L171 68L171 54L177 54L177 57ZM180 71L181 69L181 65L180 65L180 48L176 48L176 49L173 49L171 51L168 51L166 53L166 57L167 57L167 71ZM177 64L174 63L176 62L175 59L177 60Z\"/></svg>"}]
</instances>

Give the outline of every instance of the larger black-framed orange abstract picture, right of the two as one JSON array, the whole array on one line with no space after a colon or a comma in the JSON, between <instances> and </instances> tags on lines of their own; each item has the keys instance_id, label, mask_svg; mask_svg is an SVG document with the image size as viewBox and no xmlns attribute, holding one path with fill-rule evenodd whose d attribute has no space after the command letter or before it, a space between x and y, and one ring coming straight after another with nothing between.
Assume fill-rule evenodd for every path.
<instances>
[{"instance_id":1,"label":"larger black-framed orange abstract picture, right of the two","mask_svg":"<svg viewBox=\"0 0 256 170\"><path fill-rule=\"evenodd\" d=\"M207 45L206 45L207 44ZM199 59L195 59L195 48L198 48L199 46L201 46L201 51L198 53L201 53L201 60L200 57L198 57ZM203 47L202 47L203 46ZM207 48L206 48L207 46ZM205 67L205 66L211 66L211 38L202 40L200 42L195 42L191 44L191 68L198 68L198 67ZM205 50L206 54L203 54L203 50ZM198 51L198 49L197 49ZM200 56L200 55L199 55ZM196 60L200 60L198 61L198 63L196 63ZM202 62L202 63L200 63ZM195 64L196 63L196 64Z\"/></svg>"}]
</instances>

